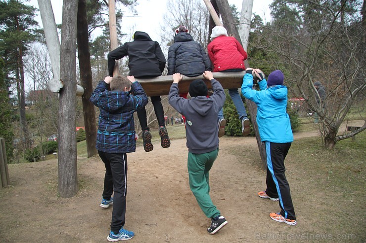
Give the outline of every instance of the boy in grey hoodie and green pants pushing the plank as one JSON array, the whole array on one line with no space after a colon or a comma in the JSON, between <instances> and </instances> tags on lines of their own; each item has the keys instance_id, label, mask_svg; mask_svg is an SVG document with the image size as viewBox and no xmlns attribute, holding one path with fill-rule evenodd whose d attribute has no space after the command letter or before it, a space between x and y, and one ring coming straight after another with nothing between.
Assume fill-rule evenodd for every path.
<instances>
[{"instance_id":1,"label":"boy in grey hoodie and green pants pushing the plank","mask_svg":"<svg viewBox=\"0 0 366 243\"><path fill-rule=\"evenodd\" d=\"M224 106L225 93L211 71L205 71L203 76L211 81L214 90L212 96L206 97L205 82L202 79L196 79L189 85L189 95L192 99L179 97L178 83L183 76L175 73L169 92L169 104L185 116L189 187L203 213L211 218L211 226L207 231L213 235L228 223L212 203L208 180L209 171L219 152L219 131L216 129L215 121L220 109Z\"/></svg>"}]
</instances>

